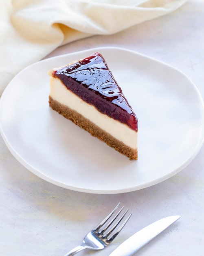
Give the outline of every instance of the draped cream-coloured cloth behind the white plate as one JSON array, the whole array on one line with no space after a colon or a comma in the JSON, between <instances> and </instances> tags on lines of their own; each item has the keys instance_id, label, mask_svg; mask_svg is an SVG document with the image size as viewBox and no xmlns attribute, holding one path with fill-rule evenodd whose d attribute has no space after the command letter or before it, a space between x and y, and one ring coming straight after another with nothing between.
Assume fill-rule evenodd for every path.
<instances>
[{"instance_id":1,"label":"draped cream-coloured cloth behind the white plate","mask_svg":"<svg viewBox=\"0 0 204 256\"><path fill-rule=\"evenodd\" d=\"M24 67L57 47L114 34L165 15L186 0L1 0L0 95Z\"/></svg>"}]
</instances>

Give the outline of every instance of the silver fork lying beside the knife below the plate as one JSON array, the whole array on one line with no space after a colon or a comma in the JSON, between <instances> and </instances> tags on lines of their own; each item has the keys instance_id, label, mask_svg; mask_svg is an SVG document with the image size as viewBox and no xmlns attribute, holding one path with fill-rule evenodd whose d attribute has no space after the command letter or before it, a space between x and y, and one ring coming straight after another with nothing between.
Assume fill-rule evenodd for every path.
<instances>
[{"instance_id":1,"label":"silver fork lying beside the knife below the plate","mask_svg":"<svg viewBox=\"0 0 204 256\"><path fill-rule=\"evenodd\" d=\"M116 213L116 209L118 209L119 205L120 203L83 238L83 243L81 245L72 249L65 256L75 255L77 252L84 249L101 250L107 245L110 245L112 240L114 240L114 238L119 234L132 215L132 213L130 213L129 216L124 219L128 211L127 209L120 217L119 214L123 210L124 206ZM116 229L116 227L118 228Z\"/></svg>"}]
</instances>

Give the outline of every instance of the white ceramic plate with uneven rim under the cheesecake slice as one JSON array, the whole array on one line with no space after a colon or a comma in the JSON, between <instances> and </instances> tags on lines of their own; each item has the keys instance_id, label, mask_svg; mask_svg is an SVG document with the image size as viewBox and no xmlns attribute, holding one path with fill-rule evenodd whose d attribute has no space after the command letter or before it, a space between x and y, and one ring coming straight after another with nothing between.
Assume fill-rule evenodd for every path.
<instances>
[{"instance_id":1,"label":"white ceramic plate with uneven rim under the cheesecake slice","mask_svg":"<svg viewBox=\"0 0 204 256\"><path fill-rule=\"evenodd\" d=\"M138 117L138 161L129 159L48 105L48 70L101 52ZM88 193L123 193L166 180L189 164L204 140L196 86L175 68L121 48L46 59L22 70L0 100L0 131L35 175Z\"/></svg>"}]
</instances>

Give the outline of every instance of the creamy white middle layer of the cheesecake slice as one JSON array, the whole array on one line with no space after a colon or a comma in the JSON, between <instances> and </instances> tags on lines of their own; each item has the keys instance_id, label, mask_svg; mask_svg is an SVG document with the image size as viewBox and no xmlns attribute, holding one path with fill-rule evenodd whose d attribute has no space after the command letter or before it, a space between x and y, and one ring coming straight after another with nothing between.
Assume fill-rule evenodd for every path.
<instances>
[{"instance_id":1,"label":"creamy white middle layer of the cheesecake slice","mask_svg":"<svg viewBox=\"0 0 204 256\"><path fill-rule=\"evenodd\" d=\"M80 99L73 92L68 90L66 86L57 78L50 77L50 96L77 111L92 123L105 130L114 138L122 141L125 145L137 148L137 132L129 128L126 124L108 117L99 112L94 106Z\"/></svg>"}]
</instances>

